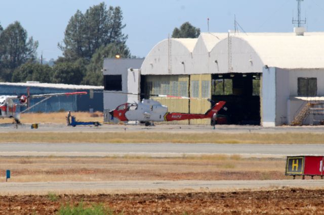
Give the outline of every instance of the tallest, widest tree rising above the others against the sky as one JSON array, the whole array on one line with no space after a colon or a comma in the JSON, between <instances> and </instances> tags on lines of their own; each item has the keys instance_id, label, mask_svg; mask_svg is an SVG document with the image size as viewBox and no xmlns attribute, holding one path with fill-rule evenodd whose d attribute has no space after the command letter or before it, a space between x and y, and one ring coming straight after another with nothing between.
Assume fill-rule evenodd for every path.
<instances>
[{"instance_id":1,"label":"tallest, widest tree rising above the others against the sky","mask_svg":"<svg viewBox=\"0 0 324 215\"><path fill-rule=\"evenodd\" d=\"M120 8L109 7L107 10L105 3L90 7L85 14L77 11L69 20L63 42L58 47L69 60L90 60L99 47L126 42L127 35L121 32L126 26L122 20Z\"/></svg>"}]
</instances>

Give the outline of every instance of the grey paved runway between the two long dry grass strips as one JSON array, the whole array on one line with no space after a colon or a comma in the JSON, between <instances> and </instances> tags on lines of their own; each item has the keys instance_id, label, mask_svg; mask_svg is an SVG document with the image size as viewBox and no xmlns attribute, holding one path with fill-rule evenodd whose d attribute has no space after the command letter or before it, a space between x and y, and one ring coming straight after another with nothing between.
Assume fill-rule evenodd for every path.
<instances>
[{"instance_id":1,"label":"grey paved runway between the two long dry grass strips","mask_svg":"<svg viewBox=\"0 0 324 215\"><path fill-rule=\"evenodd\" d=\"M241 154L252 157L322 155L322 144L213 143L1 143L0 156L184 156Z\"/></svg>"}]
</instances>

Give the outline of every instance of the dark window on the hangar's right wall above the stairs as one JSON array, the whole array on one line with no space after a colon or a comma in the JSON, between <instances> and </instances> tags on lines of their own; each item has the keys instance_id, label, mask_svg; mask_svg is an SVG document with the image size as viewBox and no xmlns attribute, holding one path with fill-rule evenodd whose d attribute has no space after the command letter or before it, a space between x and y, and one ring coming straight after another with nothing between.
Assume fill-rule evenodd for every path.
<instances>
[{"instance_id":1,"label":"dark window on the hangar's right wall above the stairs","mask_svg":"<svg viewBox=\"0 0 324 215\"><path fill-rule=\"evenodd\" d=\"M298 78L298 95L314 96L317 94L317 78Z\"/></svg>"}]
</instances>

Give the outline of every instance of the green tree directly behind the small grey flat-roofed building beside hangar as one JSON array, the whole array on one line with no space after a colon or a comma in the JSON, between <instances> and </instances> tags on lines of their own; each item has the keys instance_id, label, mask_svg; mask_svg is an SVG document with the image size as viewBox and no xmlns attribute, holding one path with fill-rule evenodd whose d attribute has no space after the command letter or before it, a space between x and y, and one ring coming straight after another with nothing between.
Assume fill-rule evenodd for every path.
<instances>
[{"instance_id":1,"label":"green tree directly behind the small grey flat-roofed building beside hangar","mask_svg":"<svg viewBox=\"0 0 324 215\"><path fill-rule=\"evenodd\" d=\"M130 58L131 53L125 43L109 43L102 46L92 56L89 65L87 66L87 73L82 83L87 85L103 85L102 65L104 58L114 58L120 55L123 58Z\"/></svg>"}]
</instances>

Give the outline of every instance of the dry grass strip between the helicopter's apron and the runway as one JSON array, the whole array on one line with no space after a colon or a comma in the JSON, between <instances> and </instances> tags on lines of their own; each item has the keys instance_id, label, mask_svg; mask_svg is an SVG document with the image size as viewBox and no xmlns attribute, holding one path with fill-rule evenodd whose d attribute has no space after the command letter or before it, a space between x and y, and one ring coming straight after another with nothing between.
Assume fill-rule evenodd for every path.
<instances>
[{"instance_id":1,"label":"dry grass strip between the helicopter's apron and the runway","mask_svg":"<svg viewBox=\"0 0 324 215\"><path fill-rule=\"evenodd\" d=\"M4 132L0 142L49 143L323 143L321 133Z\"/></svg>"}]
</instances>

